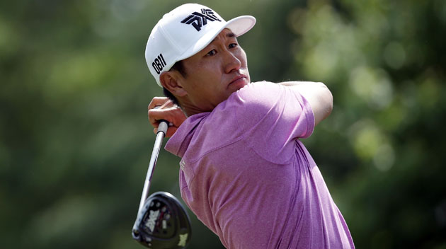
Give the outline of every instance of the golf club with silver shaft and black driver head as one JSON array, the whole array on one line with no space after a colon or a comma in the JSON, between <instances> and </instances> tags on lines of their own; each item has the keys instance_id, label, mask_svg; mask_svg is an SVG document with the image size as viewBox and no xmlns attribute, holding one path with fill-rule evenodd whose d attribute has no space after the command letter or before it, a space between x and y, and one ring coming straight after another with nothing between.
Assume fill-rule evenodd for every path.
<instances>
[{"instance_id":1,"label":"golf club with silver shaft and black driver head","mask_svg":"<svg viewBox=\"0 0 446 249\"><path fill-rule=\"evenodd\" d=\"M168 192L155 192L149 196L153 175L168 122L159 122L149 169L142 189L138 214L132 228L133 238L151 249L185 248L190 241L190 219L181 202Z\"/></svg>"}]
</instances>

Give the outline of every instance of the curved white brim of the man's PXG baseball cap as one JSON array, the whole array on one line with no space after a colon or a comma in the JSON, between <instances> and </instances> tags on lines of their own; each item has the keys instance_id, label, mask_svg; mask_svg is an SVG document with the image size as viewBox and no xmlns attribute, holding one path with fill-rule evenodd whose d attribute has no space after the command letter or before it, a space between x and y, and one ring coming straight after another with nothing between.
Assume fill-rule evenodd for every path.
<instances>
[{"instance_id":1,"label":"curved white brim of the man's PXG baseball cap","mask_svg":"<svg viewBox=\"0 0 446 249\"><path fill-rule=\"evenodd\" d=\"M256 18L253 16L239 16L236 18L233 18L225 25L222 25L221 28L214 30L213 32L207 33L206 35L203 35L203 37L198 40L198 42L195 42L195 44L191 47L189 47L188 50L186 50L183 54L181 54L180 57L178 57L177 61L181 61L182 59L187 59L194 54L200 52L202 49L204 49L207 45L214 40L214 38L222 32L225 28L229 28L232 33L236 36L243 35L244 33L248 32L253 28L253 26L256 24Z\"/></svg>"}]
</instances>

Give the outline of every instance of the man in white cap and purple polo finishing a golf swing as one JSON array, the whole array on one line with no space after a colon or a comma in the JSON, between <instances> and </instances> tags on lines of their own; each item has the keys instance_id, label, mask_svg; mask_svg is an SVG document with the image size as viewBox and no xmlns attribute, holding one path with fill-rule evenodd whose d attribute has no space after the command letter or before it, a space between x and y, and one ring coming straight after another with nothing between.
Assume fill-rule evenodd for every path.
<instances>
[{"instance_id":1,"label":"man in white cap and purple polo finishing a golf swing","mask_svg":"<svg viewBox=\"0 0 446 249\"><path fill-rule=\"evenodd\" d=\"M171 123L181 196L227 248L354 248L299 141L330 114L331 93L323 83L251 83L236 37L255 22L185 4L149 36L147 64L171 98L151 101L149 121Z\"/></svg>"}]
</instances>

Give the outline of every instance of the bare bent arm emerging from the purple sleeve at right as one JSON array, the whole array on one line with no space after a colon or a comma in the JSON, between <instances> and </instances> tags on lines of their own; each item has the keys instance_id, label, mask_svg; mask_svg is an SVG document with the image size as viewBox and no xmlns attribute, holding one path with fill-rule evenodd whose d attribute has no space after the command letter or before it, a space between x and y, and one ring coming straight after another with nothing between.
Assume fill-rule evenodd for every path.
<instances>
[{"instance_id":1,"label":"bare bent arm emerging from the purple sleeve at right","mask_svg":"<svg viewBox=\"0 0 446 249\"><path fill-rule=\"evenodd\" d=\"M333 95L331 91L321 82L283 82L284 86L299 91L309 102L314 115L314 125L319 124L333 110Z\"/></svg>"}]
</instances>

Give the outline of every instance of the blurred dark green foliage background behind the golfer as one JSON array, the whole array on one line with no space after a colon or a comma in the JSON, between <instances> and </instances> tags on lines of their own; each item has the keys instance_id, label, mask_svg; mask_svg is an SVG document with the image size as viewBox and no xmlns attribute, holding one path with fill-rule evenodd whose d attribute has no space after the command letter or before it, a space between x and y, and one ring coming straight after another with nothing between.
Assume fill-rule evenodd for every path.
<instances>
[{"instance_id":1,"label":"blurred dark green foliage background behind the golfer","mask_svg":"<svg viewBox=\"0 0 446 249\"><path fill-rule=\"evenodd\" d=\"M229 20L253 81L323 81L305 139L357 248L446 248L446 1L198 1ZM0 248L142 248L132 241L162 95L151 28L183 1L0 3ZM180 197L161 151L151 192ZM249 232L249 231L247 231ZM190 248L222 248L193 216Z\"/></svg>"}]
</instances>

